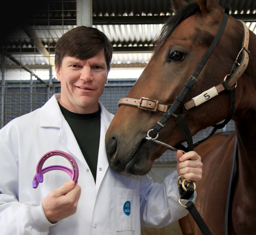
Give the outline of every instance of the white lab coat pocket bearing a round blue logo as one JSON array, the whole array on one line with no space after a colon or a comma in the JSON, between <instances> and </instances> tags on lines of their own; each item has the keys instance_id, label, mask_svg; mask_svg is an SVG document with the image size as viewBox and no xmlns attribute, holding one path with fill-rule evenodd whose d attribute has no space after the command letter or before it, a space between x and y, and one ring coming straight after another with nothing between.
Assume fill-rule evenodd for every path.
<instances>
[{"instance_id":1,"label":"white lab coat pocket bearing a round blue logo","mask_svg":"<svg viewBox=\"0 0 256 235\"><path fill-rule=\"evenodd\" d=\"M117 231L135 230L136 189L114 187L115 224Z\"/></svg>"}]
</instances>

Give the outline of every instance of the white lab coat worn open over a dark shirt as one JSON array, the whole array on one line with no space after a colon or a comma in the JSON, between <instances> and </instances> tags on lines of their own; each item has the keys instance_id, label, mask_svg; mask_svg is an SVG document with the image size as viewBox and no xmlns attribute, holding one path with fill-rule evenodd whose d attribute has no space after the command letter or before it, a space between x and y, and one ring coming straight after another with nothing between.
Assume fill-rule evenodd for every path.
<instances>
[{"instance_id":1,"label":"white lab coat worn open over a dark shirt","mask_svg":"<svg viewBox=\"0 0 256 235\"><path fill-rule=\"evenodd\" d=\"M42 108L14 119L0 130L0 233L3 235L139 235L140 226L163 227L187 214L178 204L177 173L163 184L148 176L114 173L108 164L105 134L113 118L101 108L100 147L96 184L78 143L59 109L54 95ZM71 154L79 169L82 193L76 213L51 224L45 217L42 200L53 189L70 180L63 171L44 174L36 189L33 176L39 159L48 151ZM47 165L70 163L61 156ZM130 215L124 205L130 201ZM127 205L127 204L126 204Z\"/></svg>"}]
</instances>

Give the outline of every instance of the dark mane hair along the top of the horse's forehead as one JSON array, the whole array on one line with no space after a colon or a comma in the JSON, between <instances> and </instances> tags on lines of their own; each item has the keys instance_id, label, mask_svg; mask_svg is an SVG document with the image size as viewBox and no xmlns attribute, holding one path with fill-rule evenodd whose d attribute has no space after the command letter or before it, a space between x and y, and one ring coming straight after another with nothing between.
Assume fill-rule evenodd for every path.
<instances>
[{"instance_id":1,"label":"dark mane hair along the top of the horse's forehead","mask_svg":"<svg viewBox=\"0 0 256 235\"><path fill-rule=\"evenodd\" d=\"M163 25L161 33L156 40L156 47L154 51L156 52L161 49L161 47L165 44L171 33L182 21L186 20L188 17L194 15L199 11L199 5L196 2L191 2L186 6L182 7L180 10L178 10L175 13L175 15L169 17L168 20Z\"/></svg>"}]
</instances>

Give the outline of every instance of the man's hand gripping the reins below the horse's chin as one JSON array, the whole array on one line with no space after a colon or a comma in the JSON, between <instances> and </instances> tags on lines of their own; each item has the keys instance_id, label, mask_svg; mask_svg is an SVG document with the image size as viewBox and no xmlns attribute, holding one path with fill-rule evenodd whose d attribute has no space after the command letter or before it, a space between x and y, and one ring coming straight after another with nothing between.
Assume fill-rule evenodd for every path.
<instances>
[{"instance_id":1,"label":"man's hand gripping the reins below the horse's chin","mask_svg":"<svg viewBox=\"0 0 256 235\"><path fill-rule=\"evenodd\" d=\"M198 185L202 179L202 167L201 157L194 151L186 152L178 150L176 153L177 158L177 171L179 175L183 175L185 178L195 181Z\"/></svg>"}]
</instances>

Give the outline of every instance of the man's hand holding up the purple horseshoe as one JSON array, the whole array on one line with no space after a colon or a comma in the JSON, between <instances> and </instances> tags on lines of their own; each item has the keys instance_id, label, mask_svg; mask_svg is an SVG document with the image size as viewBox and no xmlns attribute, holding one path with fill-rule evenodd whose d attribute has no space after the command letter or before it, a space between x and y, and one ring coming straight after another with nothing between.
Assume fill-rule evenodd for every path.
<instances>
[{"instance_id":1,"label":"man's hand holding up the purple horseshoe","mask_svg":"<svg viewBox=\"0 0 256 235\"><path fill-rule=\"evenodd\" d=\"M73 180L52 190L42 202L48 221L54 223L76 213L80 194L81 187Z\"/></svg>"}]
</instances>

